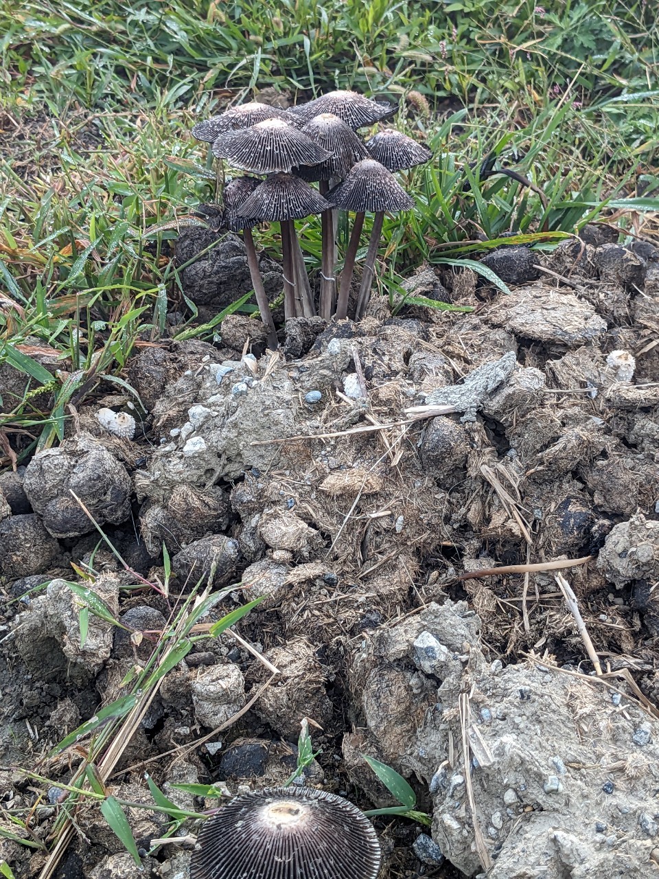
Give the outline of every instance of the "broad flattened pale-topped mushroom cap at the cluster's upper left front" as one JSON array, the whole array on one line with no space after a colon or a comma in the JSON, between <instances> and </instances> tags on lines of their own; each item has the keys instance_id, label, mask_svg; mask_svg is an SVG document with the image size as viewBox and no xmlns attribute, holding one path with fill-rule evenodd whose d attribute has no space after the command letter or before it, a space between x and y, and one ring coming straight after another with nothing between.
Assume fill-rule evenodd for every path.
<instances>
[{"instance_id":1,"label":"broad flattened pale-topped mushroom cap at the cluster's upper left front","mask_svg":"<svg viewBox=\"0 0 659 879\"><path fill-rule=\"evenodd\" d=\"M324 162L331 155L282 119L266 119L250 128L221 134L213 152L255 174L291 171L297 165Z\"/></svg>"}]
</instances>

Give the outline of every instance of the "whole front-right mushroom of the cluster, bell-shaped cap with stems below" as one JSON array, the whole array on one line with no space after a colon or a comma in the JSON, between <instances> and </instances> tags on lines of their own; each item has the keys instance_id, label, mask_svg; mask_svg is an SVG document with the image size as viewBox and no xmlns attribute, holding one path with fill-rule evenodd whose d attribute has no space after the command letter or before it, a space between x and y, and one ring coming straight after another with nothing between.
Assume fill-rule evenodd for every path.
<instances>
[{"instance_id":1,"label":"whole front-right mushroom of the cluster, bell-shaped cap with stems below","mask_svg":"<svg viewBox=\"0 0 659 879\"><path fill-rule=\"evenodd\" d=\"M352 225L350 243L344 259L344 271L341 272L341 287L337 302L337 318L339 319L348 316L348 296L359 246L359 236L364 225L364 214L366 211L375 214L361 286L359 287L355 313L355 317L358 318L364 314L371 294L375 257L378 253L385 211L409 210L410 207L414 206L414 201L410 199L391 171L387 171L384 165L376 162L375 159L364 159L358 162L351 169L344 182L329 191L327 198L333 205L346 211L355 212L355 222Z\"/></svg>"}]
</instances>

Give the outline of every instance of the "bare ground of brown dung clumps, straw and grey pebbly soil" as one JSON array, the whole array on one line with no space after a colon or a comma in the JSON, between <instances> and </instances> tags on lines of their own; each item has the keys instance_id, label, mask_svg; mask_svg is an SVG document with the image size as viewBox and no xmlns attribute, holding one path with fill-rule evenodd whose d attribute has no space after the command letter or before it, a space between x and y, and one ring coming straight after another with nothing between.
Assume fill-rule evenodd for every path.
<instances>
[{"instance_id":1,"label":"bare ground of brown dung clumps, straw and grey pebbly soil","mask_svg":"<svg viewBox=\"0 0 659 879\"><path fill-rule=\"evenodd\" d=\"M186 294L214 310L244 259L235 236L209 253ZM127 369L145 407L134 439L98 423L127 406L109 389L62 446L0 476L0 827L29 816L52 842L88 739L48 753L127 693L200 583L233 587L202 624L263 600L239 638L201 640L172 668L112 794L151 803L148 771L201 810L217 801L172 785L281 784L308 718L304 783L394 805L366 753L431 814L375 819L387 879L653 875L659 262L601 227L543 257L499 253L488 265L511 294L470 271L406 282L471 314L392 317L374 299L357 324L290 322L277 355L242 316L219 346L143 347ZM134 635L91 614L81 647L68 582ZM127 817L141 875L184 879L199 825L146 856L162 816ZM96 806L75 825L54 875L135 875ZM0 837L3 858L25 877L45 862Z\"/></svg>"}]
</instances>

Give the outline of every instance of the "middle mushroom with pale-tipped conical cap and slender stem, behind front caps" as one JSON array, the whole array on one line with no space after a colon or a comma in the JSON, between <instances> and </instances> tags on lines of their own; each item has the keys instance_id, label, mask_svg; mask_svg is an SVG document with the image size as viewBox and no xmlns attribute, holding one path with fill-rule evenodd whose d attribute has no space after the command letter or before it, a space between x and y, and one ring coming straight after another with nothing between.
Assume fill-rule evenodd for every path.
<instances>
[{"instance_id":1,"label":"middle mushroom with pale-tipped conical cap and slender stem, behind front caps","mask_svg":"<svg viewBox=\"0 0 659 879\"><path fill-rule=\"evenodd\" d=\"M317 180L321 195L329 192L329 180L343 180L354 163L368 156L364 143L343 120L333 113L320 113L314 116L303 128L302 133L323 149L332 154L324 162L296 168L295 173L304 180ZM326 320L334 308L336 279L334 277L334 229L332 211L323 211L322 223L322 265L320 315Z\"/></svg>"}]
</instances>

